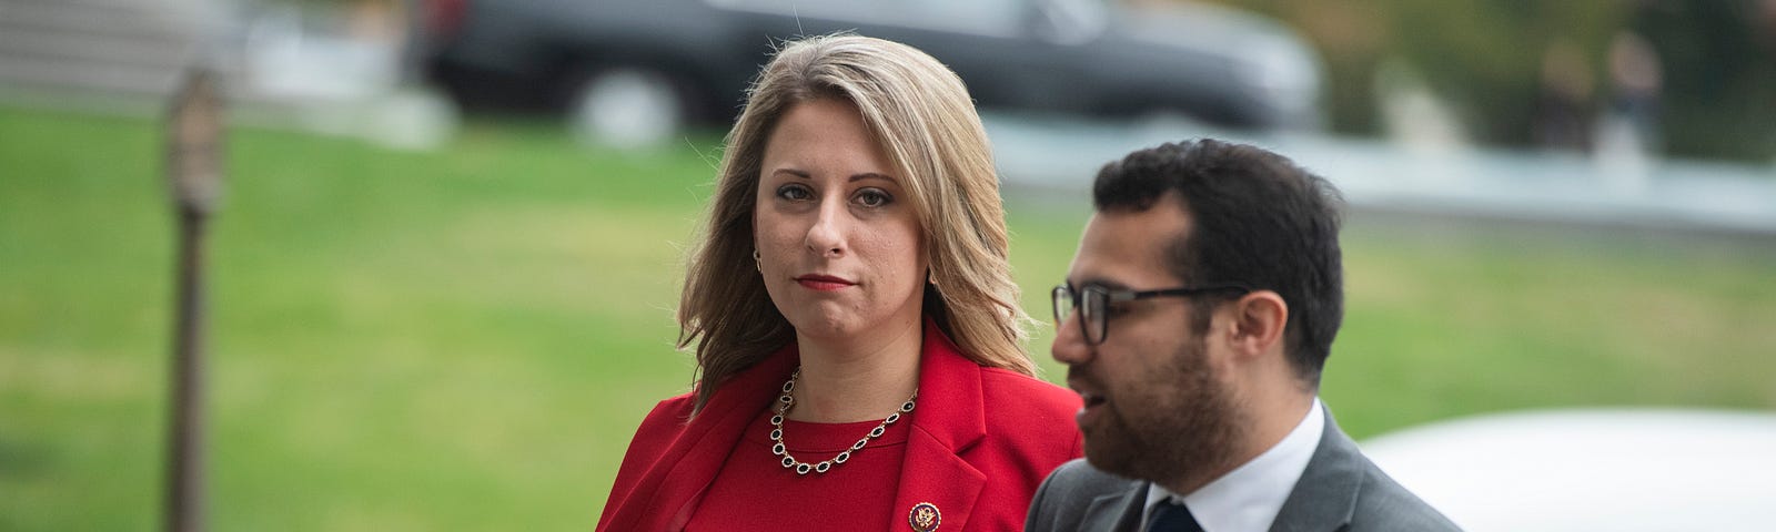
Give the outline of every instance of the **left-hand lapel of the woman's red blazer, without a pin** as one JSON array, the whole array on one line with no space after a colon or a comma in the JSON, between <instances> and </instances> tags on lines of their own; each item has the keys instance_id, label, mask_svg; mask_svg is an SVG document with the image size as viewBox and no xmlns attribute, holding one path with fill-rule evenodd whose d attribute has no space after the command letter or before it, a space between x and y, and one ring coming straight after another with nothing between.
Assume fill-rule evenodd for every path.
<instances>
[{"instance_id":1,"label":"left-hand lapel of the woman's red blazer, without a pin","mask_svg":"<svg viewBox=\"0 0 1776 532\"><path fill-rule=\"evenodd\" d=\"M696 511L696 502L721 472L721 463L733 452L746 426L758 417L758 411L771 406L797 360L801 360L799 351L790 344L716 390L703 411L668 443L638 484L638 491L654 493L643 498L648 502L641 512L630 516L638 523L634 530L684 530Z\"/></svg>"}]
</instances>

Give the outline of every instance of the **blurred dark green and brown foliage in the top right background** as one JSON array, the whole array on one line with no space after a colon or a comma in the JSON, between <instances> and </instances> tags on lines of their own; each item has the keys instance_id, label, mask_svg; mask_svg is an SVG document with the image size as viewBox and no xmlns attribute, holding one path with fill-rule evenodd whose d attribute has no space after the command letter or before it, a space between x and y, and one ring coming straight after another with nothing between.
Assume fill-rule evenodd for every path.
<instances>
[{"instance_id":1,"label":"blurred dark green and brown foliage in the top right background","mask_svg":"<svg viewBox=\"0 0 1776 532\"><path fill-rule=\"evenodd\" d=\"M1179 0L1188 2L1188 0ZM1579 57L1577 78L1607 80L1609 43L1645 37L1664 66L1659 137L1673 156L1776 156L1776 0L1209 0L1298 28L1327 66L1336 131L1378 133L1373 87L1389 57L1449 101L1478 142L1529 145L1550 48ZM1559 44L1568 43L1568 44ZM1606 110L1600 85L1586 115Z\"/></svg>"}]
</instances>

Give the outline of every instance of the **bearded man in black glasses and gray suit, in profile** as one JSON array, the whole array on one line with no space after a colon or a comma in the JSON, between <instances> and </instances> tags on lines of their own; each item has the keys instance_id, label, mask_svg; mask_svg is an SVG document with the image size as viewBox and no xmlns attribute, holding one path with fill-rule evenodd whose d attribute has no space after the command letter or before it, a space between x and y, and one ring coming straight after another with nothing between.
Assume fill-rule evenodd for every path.
<instances>
[{"instance_id":1,"label":"bearded man in black glasses and gray suit, in profile","mask_svg":"<svg viewBox=\"0 0 1776 532\"><path fill-rule=\"evenodd\" d=\"M1085 459L1027 530L1458 530L1320 404L1344 305L1330 183L1197 140L1106 165L1092 200L1053 291Z\"/></svg>"}]
</instances>

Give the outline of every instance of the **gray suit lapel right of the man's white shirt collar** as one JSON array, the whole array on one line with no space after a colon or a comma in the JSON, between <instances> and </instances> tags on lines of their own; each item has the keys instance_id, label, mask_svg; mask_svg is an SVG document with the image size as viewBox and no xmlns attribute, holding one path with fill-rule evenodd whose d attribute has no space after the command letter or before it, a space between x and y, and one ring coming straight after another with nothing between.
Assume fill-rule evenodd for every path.
<instances>
[{"instance_id":1,"label":"gray suit lapel right of the man's white shirt collar","mask_svg":"<svg viewBox=\"0 0 1776 532\"><path fill-rule=\"evenodd\" d=\"M1362 489L1364 458L1357 442L1339 431L1332 410L1325 408L1327 427L1320 434L1314 458L1302 470L1295 491L1282 502L1272 532L1341 530L1350 525Z\"/></svg>"}]
</instances>

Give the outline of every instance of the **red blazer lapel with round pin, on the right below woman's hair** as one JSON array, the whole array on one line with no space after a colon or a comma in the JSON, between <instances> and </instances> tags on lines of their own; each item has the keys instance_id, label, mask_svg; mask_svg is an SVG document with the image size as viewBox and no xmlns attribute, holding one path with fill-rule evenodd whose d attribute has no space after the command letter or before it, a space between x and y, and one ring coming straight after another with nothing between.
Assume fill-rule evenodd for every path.
<instances>
[{"instance_id":1,"label":"red blazer lapel with round pin, on the right below woman's hair","mask_svg":"<svg viewBox=\"0 0 1776 532\"><path fill-rule=\"evenodd\" d=\"M963 530L987 481L961 456L987 433L980 365L964 358L929 317L920 351L918 406L888 530L908 530L920 504L938 507L943 530Z\"/></svg>"}]
</instances>

